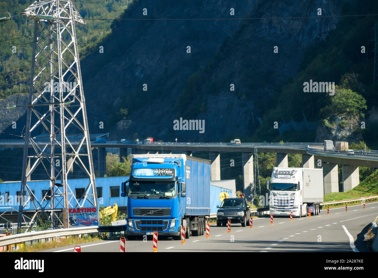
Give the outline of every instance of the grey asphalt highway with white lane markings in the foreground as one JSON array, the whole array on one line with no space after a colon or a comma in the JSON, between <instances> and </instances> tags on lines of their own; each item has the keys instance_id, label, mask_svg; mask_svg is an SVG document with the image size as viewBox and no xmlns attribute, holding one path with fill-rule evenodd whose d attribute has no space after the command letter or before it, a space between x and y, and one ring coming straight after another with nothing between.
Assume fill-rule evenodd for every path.
<instances>
[{"instance_id":1,"label":"grey asphalt highway with white lane markings in the foreground","mask_svg":"<svg viewBox=\"0 0 378 278\"><path fill-rule=\"evenodd\" d=\"M293 218L275 217L253 220L253 228L231 225L210 227L210 238L191 236L185 244L171 238L159 238L158 252L370 252L364 234L378 214L378 202L345 208L323 209L318 216ZM127 252L152 252L152 238L126 242ZM73 252L73 245L41 252ZM119 252L119 240L82 244L82 252Z\"/></svg>"}]
</instances>

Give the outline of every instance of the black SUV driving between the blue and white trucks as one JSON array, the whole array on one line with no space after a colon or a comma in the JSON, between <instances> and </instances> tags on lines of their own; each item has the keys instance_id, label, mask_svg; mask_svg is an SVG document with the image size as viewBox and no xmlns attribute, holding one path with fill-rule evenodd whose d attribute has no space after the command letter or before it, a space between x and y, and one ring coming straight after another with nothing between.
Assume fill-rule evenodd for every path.
<instances>
[{"instance_id":1,"label":"black SUV driving between the blue and white trucks","mask_svg":"<svg viewBox=\"0 0 378 278\"><path fill-rule=\"evenodd\" d=\"M222 204L217 206L217 226L226 226L228 219L231 223L242 223L242 227L249 226L251 210L245 198L227 198Z\"/></svg>"}]
</instances>

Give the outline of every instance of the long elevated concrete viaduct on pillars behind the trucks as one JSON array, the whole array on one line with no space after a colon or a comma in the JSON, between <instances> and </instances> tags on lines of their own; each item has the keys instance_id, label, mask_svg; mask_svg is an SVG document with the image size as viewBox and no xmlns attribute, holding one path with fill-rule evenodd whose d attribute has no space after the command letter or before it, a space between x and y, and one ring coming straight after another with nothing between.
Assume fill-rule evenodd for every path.
<instances>
[{"instance_id":1,"label":"long elevated concrete viaduct on pillars behind the trucks","mask_svg":"<svg viewBox=\"0 0 378 278\"><path fill-rule=\"evenodd\" d=\"M0 140L0 147L22 147L23 140ZM43 140L38 143L45 144ZM70 141L75 144L74 140ZM79 143L79 141L77 142ZM253 185L254 149L257 152L277 153L277 167L288 167L288 154L302 154L303 167L322 168L324 177L324 194L339 191L338 164L342 165L343 190L348 191L359 184L359 166L378 168L378 151L355 150L354 154L345 151L324 150L323 143L171 143L142 142L124 143L121 141L107 141L106 143L91 143L92 148L98 148L98 169L102 177L106 171L106 148L119 148L120 159L127 157L128 149L132 154L169 154L183 153L192 155L192 152L209 152L211 160L211 180L220 180L220 155L222 152L240 152L242 154L244 188ZM69 162L68 162L69 163Z\"/></svg>"}]
</instances>

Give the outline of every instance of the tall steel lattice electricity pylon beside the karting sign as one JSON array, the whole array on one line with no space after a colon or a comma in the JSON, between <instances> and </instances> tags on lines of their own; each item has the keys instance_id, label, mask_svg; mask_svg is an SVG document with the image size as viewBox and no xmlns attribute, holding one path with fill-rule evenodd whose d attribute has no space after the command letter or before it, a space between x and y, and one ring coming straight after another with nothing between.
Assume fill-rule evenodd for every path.
<instances>
[{"instance_id":1,"label":"tall steel lattice electricity pylon beside the karting sign","mask_svg":"<svg viewBox=\"0 0 378 278\"><path fill-rule=\"evenodd\" d=\"M22 15L34 20L34 39L18 232L22 222L32 227L43 215L50 228L68 227L68 208L98 205L75 31L75 24L86 23L71 0L38 0ZM68 132L79 140L70 140ZM40 133L49 139L33 138ZM89 179L77 198L68 180L74 163ZM27 183L37 166L50 180L40 198ZM25 212L34 212L31 221L26 221Z\"/></svg>"}]
</instances>

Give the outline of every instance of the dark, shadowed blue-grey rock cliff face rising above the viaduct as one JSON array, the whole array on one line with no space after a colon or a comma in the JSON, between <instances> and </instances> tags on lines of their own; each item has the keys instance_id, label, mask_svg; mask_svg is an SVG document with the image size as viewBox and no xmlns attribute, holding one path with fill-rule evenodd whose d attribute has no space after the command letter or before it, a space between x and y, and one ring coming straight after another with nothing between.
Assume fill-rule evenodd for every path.
<instances>
[{"instance_id":1,"label":"dark, shadowed blue-grey rock cliff face rising above the viaduct","mask_svg":"<svg viewBox=\"0 0 378 278\"><path fill-rule=\"evenodd\" d=\"M252 113L263 116L270 109L280 86L305 62L305 50L324 40L338 19L233 19L316 16L318 8L332 16L342 6L330 0L133 3L123 18L230 20L113 23L112 34L101 43L104 53L94 52L81 63L91 132L110 130L121 120L115 116L119 109L127 108L127 124L112 129L122 138L221 141L253 134ZM174 130L180 117L204 120L205 132Z\"/></svg>"}]
</instances>

